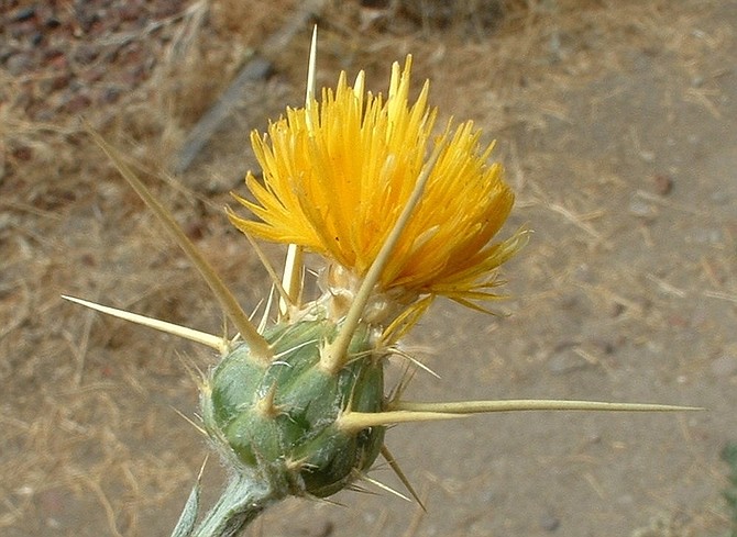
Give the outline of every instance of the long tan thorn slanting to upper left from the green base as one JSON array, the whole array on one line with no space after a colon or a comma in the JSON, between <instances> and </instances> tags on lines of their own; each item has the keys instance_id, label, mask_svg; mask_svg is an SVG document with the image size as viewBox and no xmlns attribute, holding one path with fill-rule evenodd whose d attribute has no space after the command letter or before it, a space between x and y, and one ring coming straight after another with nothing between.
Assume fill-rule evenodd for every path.
<instances>
[{"instance_id":1,"label":"long tan thorn slanting to upper left from the green base","mask_svg":"<svg viewBox=\"0 0 737 537\"><path fill-rule=\"evenodd\" d=\"M95 142L102 148L118 171L123 176L128 183L135 190L135 193L145 202L148 209L154 213L166 231L173 236L179 247L187 255L205 282L210 287L218 302L224 310L235 328L241 333L241 337L249 344L253 356L264 365L271 362L273 350L268 342L258 334L256 327L251 323L241 305L230 292L224 282L220 279L212 266L205 259L205 256L197 249L193 242L187 237L179 224L174 220L172 213L162 205L158 200L148 191L145 184L136 177L133 170L128 166L124 158L116 148L108 144L102 136L96 133L89 124L86 124L87 132Z\"/></svg>"}]
</instances>

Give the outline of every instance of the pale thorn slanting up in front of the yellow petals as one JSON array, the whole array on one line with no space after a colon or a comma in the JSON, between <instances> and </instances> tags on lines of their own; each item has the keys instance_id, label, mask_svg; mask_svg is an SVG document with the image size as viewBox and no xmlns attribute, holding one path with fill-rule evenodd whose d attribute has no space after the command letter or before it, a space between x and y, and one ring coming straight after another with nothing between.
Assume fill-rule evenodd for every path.
<instances>
[{"instance_id":1,"label":"pale thorn slanting up in front of the yellow petals","mask_svg":"<svg viewBox=\"0 0 737 537\"><path fill-rule=\"evenodd\" d=\"M376 259L374 259L374 261L371 264L366 276L361 282L361 287L355 293L353 303L351 304L351 307L345 315L345 321L343 322L338 336L336 336L336 339L326 346L326 351L320 358L320 366L323 370L334 374L340 371L340 369L348 361L348 347L353 337L353 333L361 322L361 316L363 315L366 303L374 292L374 287L378 282L384 267L386 267L389 258L392 257L394 247L399 242L402 233L407 226L415 208L419 203L420 198L422 197L422 192L425 191L425 186L430 178L430 174L432 174L432 169L444 148L446 144L443 142L440 142L436 145L432 155L417 178L417 182L415 183L415 188L409 195L407 204L402 210L402 214L399 214L397 222L394 224L392 233L389 233L386 242L382 245L378 254L376 255Z\"/></svg>"}]
</instances>

